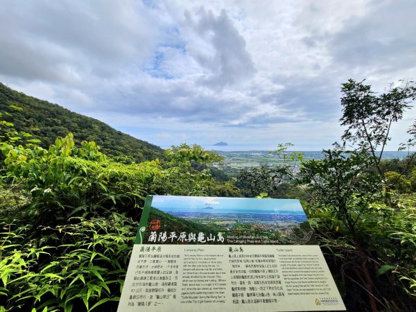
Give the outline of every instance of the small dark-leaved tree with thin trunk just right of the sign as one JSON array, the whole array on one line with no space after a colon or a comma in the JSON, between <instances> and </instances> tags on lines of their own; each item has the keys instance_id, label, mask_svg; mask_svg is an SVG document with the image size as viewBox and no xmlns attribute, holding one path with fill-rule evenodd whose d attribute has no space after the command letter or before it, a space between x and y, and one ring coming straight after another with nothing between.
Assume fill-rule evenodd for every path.
<instances>
[{"instance_id":1,"label":"small dark-leaved tree with thin trunk just right of the sign","mask_svg":"<svg viewBox=\"0 0 416 312\"><path fill-rule=\"evenodd\" d=\"M346 151L340 146L333 150L324 150L324 159L309 160L300 168L297 184L307 185L311 195L311 207L330 211L349 234L356 257L362 269L361 281L370 294L372 310L376 311L374 287L363 238L358 234L356 225L365 218L370 204L381 198L379 193L381 179L369 170L371 159L365 152Z\"/></svg>"}]
</instances>

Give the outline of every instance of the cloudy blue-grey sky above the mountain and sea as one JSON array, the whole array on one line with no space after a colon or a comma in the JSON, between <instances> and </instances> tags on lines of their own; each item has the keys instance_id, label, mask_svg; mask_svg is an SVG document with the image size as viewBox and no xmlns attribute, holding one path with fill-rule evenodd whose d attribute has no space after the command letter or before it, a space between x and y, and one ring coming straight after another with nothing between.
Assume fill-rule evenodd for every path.
<instances>
[{"instance_id":1,"label":"cloudy blue-grey sky above the mountain and sea","mask_svg":"<svg viewBox=\"0 0 416 312\"><path fill-rule=\"evenodd\" d=\"M0 5L0 82L162 147L321 150L348 78L416 78L414 0Z\"/></svg>"}]
</instances>

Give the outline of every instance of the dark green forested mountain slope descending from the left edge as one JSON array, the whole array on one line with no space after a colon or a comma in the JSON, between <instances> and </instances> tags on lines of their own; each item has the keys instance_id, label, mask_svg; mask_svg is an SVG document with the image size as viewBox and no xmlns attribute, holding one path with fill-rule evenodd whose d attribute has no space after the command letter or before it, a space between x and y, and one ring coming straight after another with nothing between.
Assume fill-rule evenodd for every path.
<instances>
[{"instance_id":1,"label":"dark green forested mountain slope descending from the left edge","mask_svg":"<svg viewBox=\"0 0 416 312\"><path fill-rule=\"evenodd\" d=\"M17 112L9 105L23 110ZM158 146L125 135L96 119L26 96L2 83L0 110L12 112L12 118L9 118L16 130L30 133L33 139L40 139L44 148L53 144L56 137L65 137L71 132L77 141L95 141L103 153L113 157L132 157L136 162L164 157L162 148ZM8 120L8 116L4 116L4 119Z\"/></svg>"}]
</instances>

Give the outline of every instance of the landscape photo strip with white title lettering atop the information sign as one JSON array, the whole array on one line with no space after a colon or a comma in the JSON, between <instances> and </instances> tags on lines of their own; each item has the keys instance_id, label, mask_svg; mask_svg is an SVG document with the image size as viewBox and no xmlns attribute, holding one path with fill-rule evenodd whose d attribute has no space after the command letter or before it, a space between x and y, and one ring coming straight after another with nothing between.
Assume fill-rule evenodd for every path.
<instances>
[{"instance_id":1,"label":"landscape photo strip with white title lettering atop the information sign","mask_svg":"<svg viewBox=\"0 0 416 312\"><path fill-rule=\"evenodd\" d=\"M316 245L299 200L154 196L143 243Z\"/></svg>"}]
</instances>

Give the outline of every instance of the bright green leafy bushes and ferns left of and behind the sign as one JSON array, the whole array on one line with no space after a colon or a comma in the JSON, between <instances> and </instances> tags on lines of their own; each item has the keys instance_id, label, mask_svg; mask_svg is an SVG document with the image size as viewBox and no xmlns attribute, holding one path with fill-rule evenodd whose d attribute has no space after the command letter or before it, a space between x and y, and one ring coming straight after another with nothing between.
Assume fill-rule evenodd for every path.
<instances>
[{"instance_id":1,"label":"bright green leafy bushes and ferns left of and behind the sign","mask_svg":"<svg viewBox=\"0 0 416 312\"><path fill-rule=\"evenodd\" d=\"M71 134L17 145L12 127L0 124L0 311L115 311L146 193L238 191L191 168L220 160L198 146L122 164Z\"/></svg>"}]
</instances>

